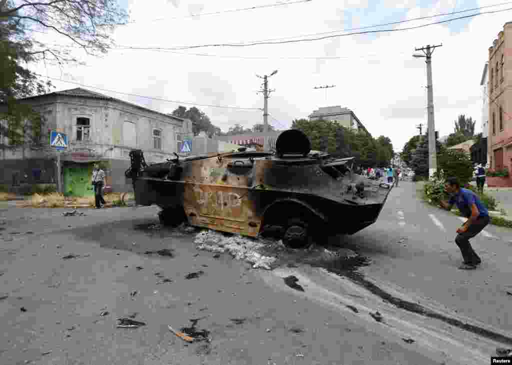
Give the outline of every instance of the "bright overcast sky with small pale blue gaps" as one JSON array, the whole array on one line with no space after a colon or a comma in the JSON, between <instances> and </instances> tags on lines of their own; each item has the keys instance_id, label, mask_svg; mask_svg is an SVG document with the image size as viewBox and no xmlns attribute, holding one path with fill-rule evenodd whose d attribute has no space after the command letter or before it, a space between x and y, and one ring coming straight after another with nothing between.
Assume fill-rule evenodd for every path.
<instances>
[{"instance_id":1,"label":"bright overcast sky with small pale blue gaps","mask_svg":"<svg viewBox=\"0 0 512 365\"><path fill-rule=\"evenodd\" d=\"M504 2L311 0L190 16L285 1L122 0L135 23L117 28L113 37L117 45L133 47L242 43L366 27ZM512 3L481 11L506 8L512 8ZM406 28L475 12L367 30ZM353 110L374 137L389 136L395 151L400 151L418 133L415 127L420 123L426 125L427 118L426 65L424 58L412 57L414 49L428 44L443 45L432 57L436 130L441 136L452 133L457 115L465 114L477 121L479 132L483 67L489 46L508 21L512 21L512 11L414 30L348 35L314 42L173 51L113 49L102 58L88 57L75 50L74 54L87 66L62 69L47 66L35 70L164 113L172 112L179 103L94 87L197 104L262 108L263 96L257 94L262 79L256 75L278 70L269 78L270 88L275 89L269 99L272 116L269 123L275 128L289 128L293 119L307 118L319 107L339 105ZM60 38L58 43L67 44L67 41ZM56 90L77 87L57 80L52 82ZM335 87L327 89L327 93L325 89L313 89L325 85ZM223 131L236 123L250 128L263 120L259 110L198 107Z\"/></svg>"}]
</instances>

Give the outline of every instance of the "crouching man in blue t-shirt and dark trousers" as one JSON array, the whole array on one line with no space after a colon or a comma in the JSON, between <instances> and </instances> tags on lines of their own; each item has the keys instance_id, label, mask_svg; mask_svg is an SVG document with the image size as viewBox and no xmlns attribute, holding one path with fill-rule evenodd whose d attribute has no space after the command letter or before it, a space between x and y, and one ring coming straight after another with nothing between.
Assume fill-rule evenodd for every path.
<instances>
[{"instance_id":1,"label":"crouching man in blue t-shirt and dark trousers","mask_svg":"<svg viewBox=\"0 0 512 365\"><path fill-rule=\"evenodd\" d=\"M464 264L459 269L476 269L482 260L471 247L470 238L475 237L489 224L489 212L474 192L460 187L456 177L447 178L444 189L452 197L450 201L441 201L441 207L452 210L456 204L462 215L468 218L464 225L457 229L458 234L455 237L455 243L464 258Z\"/></svg>"}]
</instances>

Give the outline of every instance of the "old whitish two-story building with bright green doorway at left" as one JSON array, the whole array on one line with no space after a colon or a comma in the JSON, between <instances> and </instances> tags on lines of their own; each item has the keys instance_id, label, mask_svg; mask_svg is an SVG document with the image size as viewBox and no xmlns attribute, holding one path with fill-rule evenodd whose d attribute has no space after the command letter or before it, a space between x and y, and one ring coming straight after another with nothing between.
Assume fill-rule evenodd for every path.
<instances>
[{"instance_id":1,"label":"old whitish two-story building with bright green doorway at left","mask_svg":"<svg viewBox=\"0 0 512 365\"><path fill-rule=\"evenodd\" d=\"M45 120L48 147L9 148L0 135L1 183L11 187L56 184L56 154L60 153L62 192L92 195L92 165L106 166L106 185L114 192L132 191L124 172L130 167L129 153L141 149L147 163L164 161L180 152L182 141L193 137L192 122L170 114L93 91L76 88L19 100L38 111ZM49 146L49 132L68 136L68 149L57 152Z\"/></svg>"}]
</instances>

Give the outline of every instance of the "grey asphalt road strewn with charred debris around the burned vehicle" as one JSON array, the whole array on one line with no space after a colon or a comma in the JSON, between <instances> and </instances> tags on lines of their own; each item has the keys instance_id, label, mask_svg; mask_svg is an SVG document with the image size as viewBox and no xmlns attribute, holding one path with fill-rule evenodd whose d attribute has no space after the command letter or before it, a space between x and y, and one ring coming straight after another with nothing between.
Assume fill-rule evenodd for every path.
<instances>
[{"instance_id":1,"label":"grey asphalt road strewn with charred debris around the burned vehicle","mask_svg":"<svg viewBox=\"0 0 512 365\"><path fill-rule=\"evenodd\" d=\"M472 240L482 267L460 271L462 222L420 203L410 182L393 189L376 224L330 239L370 259L356 276L216 258L196 250L195 232L147 227L155 207L66 211L0 213L2 363L476 364L512 347L512 232L486 228ZM173 257L145 254L161 249ZM286 286L288 275L305 291ZM146 325L116 328L129 315ZM191 319L211 341L167 328Z\"/></svg>"}]
</instances>

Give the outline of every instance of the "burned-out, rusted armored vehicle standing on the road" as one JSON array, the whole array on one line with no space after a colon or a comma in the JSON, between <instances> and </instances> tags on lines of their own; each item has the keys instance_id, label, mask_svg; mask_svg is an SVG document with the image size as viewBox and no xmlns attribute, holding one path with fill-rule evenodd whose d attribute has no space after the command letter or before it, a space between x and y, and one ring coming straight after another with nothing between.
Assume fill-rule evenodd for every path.
<instances>
[{"instance_id":1,"label":"burned-out, rusted armored vehicle standing on the road","mask_svg":"<svg viewBox=\"0 0 512 365\"><path fill-rule=\"evenodd\" d=\"M298 130L281 133L272 152L190 156L146 165L130 152L138 205L158 205L162 224L183 221L245 236L274 235L290 247L354 234L373 224L391 186L352 171L353 157L311 151Z\"/></svg>"}]
</instances>

